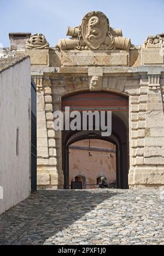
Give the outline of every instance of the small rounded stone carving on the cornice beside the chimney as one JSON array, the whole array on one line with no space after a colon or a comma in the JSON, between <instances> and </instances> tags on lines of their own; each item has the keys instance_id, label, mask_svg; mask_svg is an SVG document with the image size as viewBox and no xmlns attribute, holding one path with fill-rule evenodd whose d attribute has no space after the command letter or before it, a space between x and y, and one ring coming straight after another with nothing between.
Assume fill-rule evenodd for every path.
<instances>
[{"instance_id":1,"label":"small rounded stone carving on the cornice beside the chimney","mask_svg":"<svg viewBox=\"0 0 164 256\"><path fill-rule=\"evenodd\" d=\"M49 43L43 34L34 34L27 40L26 49L49 49Z\"/></svg>"}]
</instances>

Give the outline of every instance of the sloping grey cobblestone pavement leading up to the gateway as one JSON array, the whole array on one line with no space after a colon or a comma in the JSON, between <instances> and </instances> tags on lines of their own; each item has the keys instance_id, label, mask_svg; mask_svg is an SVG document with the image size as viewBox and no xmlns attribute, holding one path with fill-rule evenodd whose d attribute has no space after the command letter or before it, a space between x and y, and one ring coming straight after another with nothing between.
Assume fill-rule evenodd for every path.
<instances>
[{"instance_id":1,"label":"sloping grey cobblestone pavement leading up to the gateway","mask_svg":"<svg viewBox=\"0 0 164 256\"><path fill-rule=\"evenodd\" d=\"M162 190L38 191L0 215L0 244L164 244Z\"/></svg>"}]
</instances>

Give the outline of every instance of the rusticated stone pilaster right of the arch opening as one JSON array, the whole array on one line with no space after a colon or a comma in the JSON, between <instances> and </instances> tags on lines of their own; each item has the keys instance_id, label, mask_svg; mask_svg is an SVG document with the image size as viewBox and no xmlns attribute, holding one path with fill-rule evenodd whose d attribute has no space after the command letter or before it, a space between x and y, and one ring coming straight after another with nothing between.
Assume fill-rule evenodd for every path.
<instances>
[{"instance_id":1,"label":"rusticated stone pilaster right of the arch opening","mask_svg":"<svg viewBox=\"0 0 164 256\"><path fill-rule=\"evenodd\" d=\"M147 86L143 86L147 84ZM164 115L160 75L140 80L139 105L131 107L132 164L130 188L164 186ZM135 115L133 110L136 110ZM134 119L136 122L133 123ZM134 129L136 131L134 131Z\"/></svg>"}]
</instances>

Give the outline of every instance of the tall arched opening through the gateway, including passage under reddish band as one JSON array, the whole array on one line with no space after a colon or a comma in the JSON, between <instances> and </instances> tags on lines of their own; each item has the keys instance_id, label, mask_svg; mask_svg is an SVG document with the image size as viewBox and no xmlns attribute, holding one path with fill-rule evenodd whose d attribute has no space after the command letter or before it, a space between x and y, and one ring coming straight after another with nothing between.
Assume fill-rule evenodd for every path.
<instances>
[{"instance_id":1,"label":"tall arched opening through the gateway, including passage under reddish band","mask_svg":"<svg viewBox=\"0 0 164 256\"><path fill-rule=\"evenodd\" d=\"M85 188L95 188L97 186L97 177L104 174L97 174L94 176L93 187L89 187L87 181L88 175L85 175L82 170L77 171L74 175L71 174L71 165L74 166L74 170L77 161L80 161L80 153L70 161L70 151L74 151L72 147L82 147L78 143L81 141L104 141L103 143L111 143L115 146L115 173L116 177L113 180L109 180L109 187L112 188L128 188L128 97L116 94L113 92L80 92L71 94L62 98L62 110L65 111L65 107L69 107L70 112L76 110L81 114L83 111L91 110L94 112L97 110L99 113L102 111L112 112L112 134L110 136L101 136L101 127L97 130L93 125L92 130L83 130L81 123L81 130L64 130L62 132L62 169L65 177L65 189L69 189L71 179L75 179L75 176L85 177ZM82 120L82 116L81 116ZM76 144L73 144L76 143ZM87 145L89 147L89 144ZM80 149L81 150L81 149ZM86 150L84 149L84 152ZM82 152L82 151L80 151ZM87 152L87 158L93 159L93 152ZM104 157L104 156L103 156ZM112 157L111 157L112 158ZM86 159L85 159L86 160ZM99 159L100 161L101 159ZM91 161L91 160L90 160ZM83 161L84 162L84 161ZM91 161L90 165L94 166L94 161ZM102 164L104 165L104 164ZM91 168L90 168L91 169ZM108 169L109 172L109 169ZM107 176L107 175L104 175ZM88 187L87 187L88 186ZM90 185L91 186L91 185Z\"/></svg>"}]
</instances>

